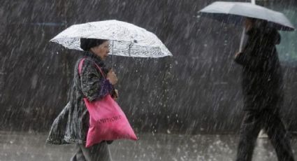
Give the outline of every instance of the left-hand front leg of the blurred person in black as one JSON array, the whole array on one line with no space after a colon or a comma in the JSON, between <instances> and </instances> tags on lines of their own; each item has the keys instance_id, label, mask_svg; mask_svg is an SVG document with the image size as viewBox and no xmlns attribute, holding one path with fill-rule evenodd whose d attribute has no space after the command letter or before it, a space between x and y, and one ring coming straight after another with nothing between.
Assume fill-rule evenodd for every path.
<instances>
[{"instance_id":1,"label":"left-hand front leg of the blurred person in black","mask_svg":"<svg viewBox=\"0 0 297 161\"><path fill-rule=\"evenodd\" d=\"M246 111L240 127L236 161L252 160L256 138L260 130L261 118L259 118L259 113L256 111Z\"/></svg>"}]
</instances>

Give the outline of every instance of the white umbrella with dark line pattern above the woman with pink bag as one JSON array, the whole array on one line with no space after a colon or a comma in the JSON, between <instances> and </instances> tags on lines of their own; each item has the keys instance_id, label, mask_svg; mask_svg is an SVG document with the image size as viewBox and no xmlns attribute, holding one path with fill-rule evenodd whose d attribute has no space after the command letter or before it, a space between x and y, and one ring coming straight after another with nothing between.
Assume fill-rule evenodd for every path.
<instances>
[{"instance_id":1,"label":"white umbrella with dark line pattern above the woman with pink bag","mask_svg":"<svg viewBox=\"0 0 297 161\"><path fill-rule=\"evenodd\" d=\"M159 38L136 25L118 20L105 20L72 25L50 41L66 48L82 50L80 38L110 40L110 55L126 57L166 57L172 56Z\"/></svg>"}]
</instances>

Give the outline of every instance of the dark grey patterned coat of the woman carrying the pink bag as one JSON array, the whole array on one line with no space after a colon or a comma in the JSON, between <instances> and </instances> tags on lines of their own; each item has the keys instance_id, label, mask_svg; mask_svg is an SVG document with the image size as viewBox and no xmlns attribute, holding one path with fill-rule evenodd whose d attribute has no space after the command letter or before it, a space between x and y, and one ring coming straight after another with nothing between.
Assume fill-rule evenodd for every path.
<instances>
[{"instance_id":1,"label":"dark grey patterned coat of the woman carrying the pink bag","mask_svg":"<svg viewBox=\"0 0 297 161\"><path fill-rule=\"evenodd\" d=\"M82 58L75 64L70 100L52 124L47 139L50 144L85 144L89 113L83 98L87 97L89 101L94 101L113 93L113 85L103 78L96 67L98 64L105 74L108 73L101 59L89 52L85 53L85 58L80 74L78 64Z\"/></svg>"}]
</instances>

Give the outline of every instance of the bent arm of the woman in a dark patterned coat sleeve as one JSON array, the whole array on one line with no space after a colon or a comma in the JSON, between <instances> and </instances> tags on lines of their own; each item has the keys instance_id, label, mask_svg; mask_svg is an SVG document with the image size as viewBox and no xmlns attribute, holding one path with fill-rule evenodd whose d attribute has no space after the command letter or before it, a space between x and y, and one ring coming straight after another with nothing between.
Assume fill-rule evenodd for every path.
<instances>
[{"instance_id":1,"label":"bent arm of the woman in a dark patterned coat sleeve","mask_svg":"<svg viewBox=\"0 0 297 161\"><path fill-rule=\"evenodd\" d=\"M96 68L95 62L85 59L80 73L82 93L91 102L101 99L112 93L113 90L113 85L110 81L104 78Z\"/></svg>"}]
</instances>

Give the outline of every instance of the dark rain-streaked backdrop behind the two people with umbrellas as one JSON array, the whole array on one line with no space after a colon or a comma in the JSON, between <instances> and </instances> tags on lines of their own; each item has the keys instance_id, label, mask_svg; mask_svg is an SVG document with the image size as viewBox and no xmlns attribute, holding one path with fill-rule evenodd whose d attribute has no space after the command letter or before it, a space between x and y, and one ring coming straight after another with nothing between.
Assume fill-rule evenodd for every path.
<instances>
[{"instance_id":1,"label":"dark rain-streaked backdrop behind the two people with umbrellas","mask_svg":"<svg viewBox=\"0 0 297 161\"><path fill-rule=\"evenodd\" d=\"M66 105L81 53L50 43L50 38L73 24L117 19L152 31L174 55L113 57L119 104L136 132L238 132L241 69L233 55L241 27L196 18L213 1L0 1L0 130L48 131ZM297 8L295 0L266 1L264 6ZM282 62L282 114L291 131L297 131L296 64Z\"/></svg>"}]
</instances>

